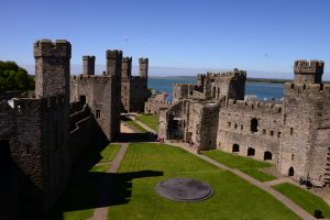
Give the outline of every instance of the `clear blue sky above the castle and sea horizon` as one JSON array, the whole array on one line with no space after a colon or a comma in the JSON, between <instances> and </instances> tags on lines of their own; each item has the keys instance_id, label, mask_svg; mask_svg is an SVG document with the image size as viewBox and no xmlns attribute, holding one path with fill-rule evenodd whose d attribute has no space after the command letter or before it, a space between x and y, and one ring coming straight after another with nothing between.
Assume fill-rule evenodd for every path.
<instances>
[{"instance_id":1,"label":"clear blue sky above the castle and sea horizon","mask_svg":"<svg viewBox=\"0 0 330 220\"><path fill-rule=\"evenodd\" d=\"M0 0L0 59L20 65L34 64L35 40L66 38L76 67L85 54L102 66L106 50L119 48L133 65L148 57L152 75L237 67L251 77L293 78L295 59L315 58L326 62L330 79L327 0Z\"/></svg>"}]
</instances>

